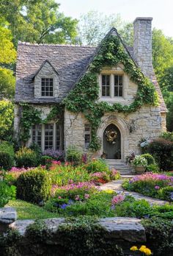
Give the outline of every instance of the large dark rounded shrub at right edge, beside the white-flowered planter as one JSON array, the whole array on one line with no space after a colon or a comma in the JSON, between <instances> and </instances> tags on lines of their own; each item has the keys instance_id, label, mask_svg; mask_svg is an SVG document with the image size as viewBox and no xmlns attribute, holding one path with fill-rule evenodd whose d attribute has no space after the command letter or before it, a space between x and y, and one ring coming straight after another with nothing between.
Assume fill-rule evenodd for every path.
<instances>
[{"instance_id":1,"label":"large dark rounded shrub at right edge, beside the white-flowered planter","mask_svg":"<svg viewBox=\"0 0 173 256\"><path fill-rule=\"evenodd\" d=\"M150 143L148 150L155 157L159 168L163 171L173 168L173 142L158 138Z\"/></svg>"}]
</instances>

